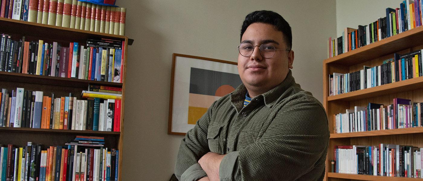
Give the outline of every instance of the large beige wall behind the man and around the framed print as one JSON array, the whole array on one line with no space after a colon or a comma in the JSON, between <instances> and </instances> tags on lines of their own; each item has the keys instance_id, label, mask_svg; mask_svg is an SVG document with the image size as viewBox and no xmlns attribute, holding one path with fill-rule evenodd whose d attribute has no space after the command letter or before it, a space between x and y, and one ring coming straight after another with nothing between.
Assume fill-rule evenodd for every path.
<instances>
[{"instance_id":1,"label":"large beige wall behind the man and around the framed print","mask_svg":"<svg viewBox=\"0 0 423 181\"><path fill-rule=\"evenodd\" d=\"M335 35L335 0L118 0L127 8L123 180L167 181L180 135L167 135L172 53L237 61L239 28L255 10L280 13L293 30L293 74L322 101L322 60ZM329 8L328 8L329 7Z\"/></svg>"}]
</instances>

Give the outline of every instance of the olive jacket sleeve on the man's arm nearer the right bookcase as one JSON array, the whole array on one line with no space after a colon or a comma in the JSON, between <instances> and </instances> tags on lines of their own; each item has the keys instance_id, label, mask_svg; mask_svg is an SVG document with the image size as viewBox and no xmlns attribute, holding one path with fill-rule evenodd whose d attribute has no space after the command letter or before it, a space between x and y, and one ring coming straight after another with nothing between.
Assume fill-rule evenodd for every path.
<instances>
[{"instance_id":1,"label":"olive jacket sleeve on the man's arm nearer the right bookcase","mask_svg":"<svg viewBox=\"0 0 423 181\"><path fill-rule=\"evenodd\" d=\"M287 103L263 136L242 150L227 154L220 163L222 181L294 181L324 161L329 143L327 116L320 103ZM310 179L306 179L310 180Z\"/></svg>"}]
</instances>

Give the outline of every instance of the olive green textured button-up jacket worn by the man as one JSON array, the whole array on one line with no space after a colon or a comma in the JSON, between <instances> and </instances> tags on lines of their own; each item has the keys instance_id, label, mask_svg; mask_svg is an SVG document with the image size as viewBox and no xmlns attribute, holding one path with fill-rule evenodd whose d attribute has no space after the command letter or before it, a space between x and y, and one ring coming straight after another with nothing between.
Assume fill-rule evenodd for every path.
<instances>
[{"instance_id":1,"label":"olive green textured button-up jacket worn by the man","mask_svg":"<svg viewBox=\"0 0 423 181\"><path fill-rule=\"evenodd\" d=\"M295 83L291 70L274 89L243 106L242 84L210 106L181 141L175 175L197 181L198 160L209 151L226 154L221 181L321 181L329 143L321 103Z\"/></svg>"}]
</instances>

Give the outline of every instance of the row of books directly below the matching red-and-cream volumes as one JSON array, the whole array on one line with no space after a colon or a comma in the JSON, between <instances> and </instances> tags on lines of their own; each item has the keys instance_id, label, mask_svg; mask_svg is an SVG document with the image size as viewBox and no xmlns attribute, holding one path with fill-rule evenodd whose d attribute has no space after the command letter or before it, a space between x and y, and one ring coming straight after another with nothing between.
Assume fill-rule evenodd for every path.
<instances>
[{"instance_id":1,"label":"row of books directly below the matching red-and-cream volumes","mask_svg":"<svg viewBox=\"0 0 423 181\"><path fill-rule=\"evenodd\" d=\"M69 47L43 40L19 41L1 35L0 70L15 73L122 82L124 41L88 39Z\"/></svg>"}]
</instances>

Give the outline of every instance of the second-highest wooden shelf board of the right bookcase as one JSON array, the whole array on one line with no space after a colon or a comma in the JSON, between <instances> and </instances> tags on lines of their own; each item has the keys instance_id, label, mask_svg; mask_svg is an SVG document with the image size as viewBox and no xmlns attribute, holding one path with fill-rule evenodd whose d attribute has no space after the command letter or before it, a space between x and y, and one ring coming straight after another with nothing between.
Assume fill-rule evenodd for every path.
<instances>
[{"instance_id":1,"label":"second-highest wooden shelf board of the right bookcase","mask_svg":"<svg viewBox=\"0 0 423 181\"><path fill-rule=\"evenodd\" d=\"M381 95L393 94L398 92L421 89L423 87L423 77L410 78L404 81L398 81L381 86L371 87L368 89L348 92L340 95L333 95L327 97L328 101L342 100L352 101L360 100L368 97L377 97Z\"/></svg>"}]
</instances>

